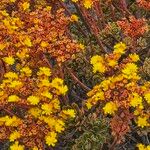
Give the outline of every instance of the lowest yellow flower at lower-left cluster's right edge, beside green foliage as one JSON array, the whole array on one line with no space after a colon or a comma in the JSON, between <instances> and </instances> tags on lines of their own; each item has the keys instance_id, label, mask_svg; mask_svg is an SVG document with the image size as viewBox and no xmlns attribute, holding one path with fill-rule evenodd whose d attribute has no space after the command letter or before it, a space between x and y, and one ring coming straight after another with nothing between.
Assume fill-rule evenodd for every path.
<instances>
[{"instance_id":1,"label":"lowest yellow flower at lower-left cluster's right edge, beside green foliage","mask_svg":"<svg viewBox=\"0 0 150 150\"><path fill-rule=\"evenodd\" d=\"M45 141L48 146L55 146L57 142L57 134L55 132L50 132L47 136L45 136Z\"/></svg>"}]
</instances>

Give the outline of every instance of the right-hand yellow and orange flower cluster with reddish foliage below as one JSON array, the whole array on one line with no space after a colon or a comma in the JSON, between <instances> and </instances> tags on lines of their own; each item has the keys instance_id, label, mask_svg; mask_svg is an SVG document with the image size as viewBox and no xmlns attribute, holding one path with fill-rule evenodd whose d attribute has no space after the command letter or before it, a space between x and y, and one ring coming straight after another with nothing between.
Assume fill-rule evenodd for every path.
<instances>
[{"instance_id":1,"label":"right-hand yellow and orange flower cluster with reddish foliage below","mask_svg":"<svg viewBox=\"0 0 150 150\"><path fill-rule=\"evenodd\" d=\"M121 42L114 46L112 54L92 57L93 72L102 73L106 78L88 92L86 101L88 109L101 103L104 114L113 116L112 134L117 137L122 137L130 130L131 119L139 127L150 126L150 84L139 85L140 76L136 65L139 56L134 53L121 58L126 48Z\"/></svg>"}]
</instances>

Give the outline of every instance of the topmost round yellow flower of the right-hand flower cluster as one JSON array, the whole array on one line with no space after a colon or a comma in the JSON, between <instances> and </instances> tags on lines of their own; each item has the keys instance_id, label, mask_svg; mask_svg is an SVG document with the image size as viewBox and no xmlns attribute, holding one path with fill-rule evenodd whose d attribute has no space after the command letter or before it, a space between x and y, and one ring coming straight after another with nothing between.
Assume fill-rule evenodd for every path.
<instances>
[{"instance_id":1,"label":"topmost round yellow flower of the right-hand flower cluster","mask_svg":"<svg viewBox=\"0 0 150 150\"><path fill-rule=\"evenodd\" d=\"M123 54L125 53L125 50L126 50L126 44L125 43L117 43L115 46L114 46L114 53L116 54Z\"/></svg>"}]
</instances>

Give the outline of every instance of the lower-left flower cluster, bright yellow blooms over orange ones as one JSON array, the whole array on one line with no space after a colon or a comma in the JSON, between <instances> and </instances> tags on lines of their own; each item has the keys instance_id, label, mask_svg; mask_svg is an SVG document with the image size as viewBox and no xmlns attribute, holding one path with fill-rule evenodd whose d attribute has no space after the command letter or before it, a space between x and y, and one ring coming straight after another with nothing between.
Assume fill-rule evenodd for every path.
<instances>
[{"instance_id":1,"label":"lower-left flower cluster, bright yellow blooms over orange ones","mask_svg":"<svg viewBox=\"0 0 150 150\"><path fill-rule=\"evenodd\" d=\"M0 84L0 140L9 139L12 150L42 149L43 139L54 146L65 121L75 117L73 109L61 109L60 96L67 90L62 79L51 78L47 67L40 67L36 75L29 67L5 73Z\"/></svg>"}]
</instances>

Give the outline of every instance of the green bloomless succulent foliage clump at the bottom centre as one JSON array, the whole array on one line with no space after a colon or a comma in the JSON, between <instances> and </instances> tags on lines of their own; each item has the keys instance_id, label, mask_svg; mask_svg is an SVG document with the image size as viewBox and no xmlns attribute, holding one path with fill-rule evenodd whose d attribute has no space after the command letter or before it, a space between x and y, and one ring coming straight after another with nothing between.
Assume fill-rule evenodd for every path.
<instances>
[{"instance_id":1,"label":"green bloomless succulent foliage clump at the bottom centre","mask_svg":"<svg viewBox=\"0 0 150 150\"><path fill-rule=\"evenodd\" d=\"M91 115L92 116L92 115ZM108 126L102 118L87 118L83 133L75 140L72 150L99 150L108 138Z\"/></svg>"}]
</instances>

